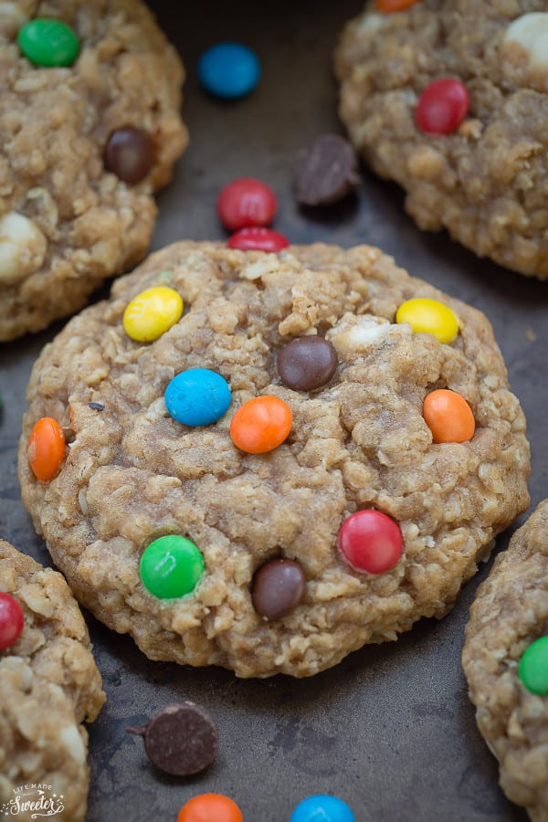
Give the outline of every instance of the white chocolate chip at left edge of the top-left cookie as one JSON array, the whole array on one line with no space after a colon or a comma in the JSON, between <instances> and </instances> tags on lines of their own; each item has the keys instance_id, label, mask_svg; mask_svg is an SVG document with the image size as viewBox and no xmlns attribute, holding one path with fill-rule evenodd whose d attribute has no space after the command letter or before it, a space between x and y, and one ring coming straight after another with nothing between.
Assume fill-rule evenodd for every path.
<instances>
[{"instance_id":1,"label":"white chocolate chip at left edge of the top-left cookie","mask_svg":"<svg viewBox=\"0 0 548 822\"><path fill-rule=\"evenodd\" d=\"M12 283L40 269L47 239L26 216L15 211L0 219L0 282Z\"/></svg>"}]
</instances>

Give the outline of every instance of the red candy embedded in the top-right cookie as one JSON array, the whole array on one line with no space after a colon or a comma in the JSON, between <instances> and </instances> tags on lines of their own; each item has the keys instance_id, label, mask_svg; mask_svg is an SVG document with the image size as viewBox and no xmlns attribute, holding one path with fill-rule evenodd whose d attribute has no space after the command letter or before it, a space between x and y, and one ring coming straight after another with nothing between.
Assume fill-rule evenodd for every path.
<instances>
[{"instance_id":1,"label":"red candy embedded in the top-right cookie","mask_svg":"<svg viewBox=\"0 0 548 822\"><path fill-rule=\"evenodd\" d=\"M469 92L458 79L434 80L418 98L416 124L427 134L450 134L469 111Z\"/></svg>"}]
</instances>

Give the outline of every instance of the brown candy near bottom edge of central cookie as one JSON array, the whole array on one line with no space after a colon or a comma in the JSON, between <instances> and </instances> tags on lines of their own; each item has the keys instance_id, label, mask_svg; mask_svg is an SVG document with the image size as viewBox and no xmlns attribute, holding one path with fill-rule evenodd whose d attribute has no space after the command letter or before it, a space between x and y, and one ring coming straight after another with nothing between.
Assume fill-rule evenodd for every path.
<instances>
[{"instance_id":1,"label":"brown candy near bottom edge of central cookie","mask_svg":"<svg viewBox=\"0 0 548 822\"><path fill-rule=\"evenodd\" d=\"M287 617L304 595L306 576L299 563L288 559L270 560L253 577L251 598L261 617Z\"/></svg>"}]
</instances>

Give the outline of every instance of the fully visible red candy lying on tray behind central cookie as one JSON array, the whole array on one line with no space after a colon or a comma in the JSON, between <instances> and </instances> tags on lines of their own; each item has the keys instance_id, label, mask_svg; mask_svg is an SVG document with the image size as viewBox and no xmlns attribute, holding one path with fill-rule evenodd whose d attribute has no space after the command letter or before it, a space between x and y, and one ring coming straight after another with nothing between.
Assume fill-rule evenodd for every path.
<instances>
[{"instance_id":1,"label":"fully visible red candy lying on tray behind central cookie","mask_svg":"<svg viewBox=\"0 0 548 822\"><path fill-rule=\"evenodd\" d=\"M254 177L240 177L221 189L217 214L229 231L249 226L269 226L276 214L276 195Z\"/></svg>"}]
</instances>

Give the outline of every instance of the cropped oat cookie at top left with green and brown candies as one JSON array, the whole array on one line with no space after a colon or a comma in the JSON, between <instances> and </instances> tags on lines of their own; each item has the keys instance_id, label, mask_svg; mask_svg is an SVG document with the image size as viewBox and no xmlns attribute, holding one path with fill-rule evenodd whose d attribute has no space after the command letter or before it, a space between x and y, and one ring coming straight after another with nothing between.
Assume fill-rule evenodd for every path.
<instances>
[{"instance_id":1,"label":"cropped oat cookie at top left with green and brown candies","mask_svg":"<svg viewBox=\"0 0 548 822\"><path fill-rule=\"evenodd\" d=\"M184 69L141 0L0 8L0 340L146 253L187 134Z\"/></svg>"}]
</instances>

